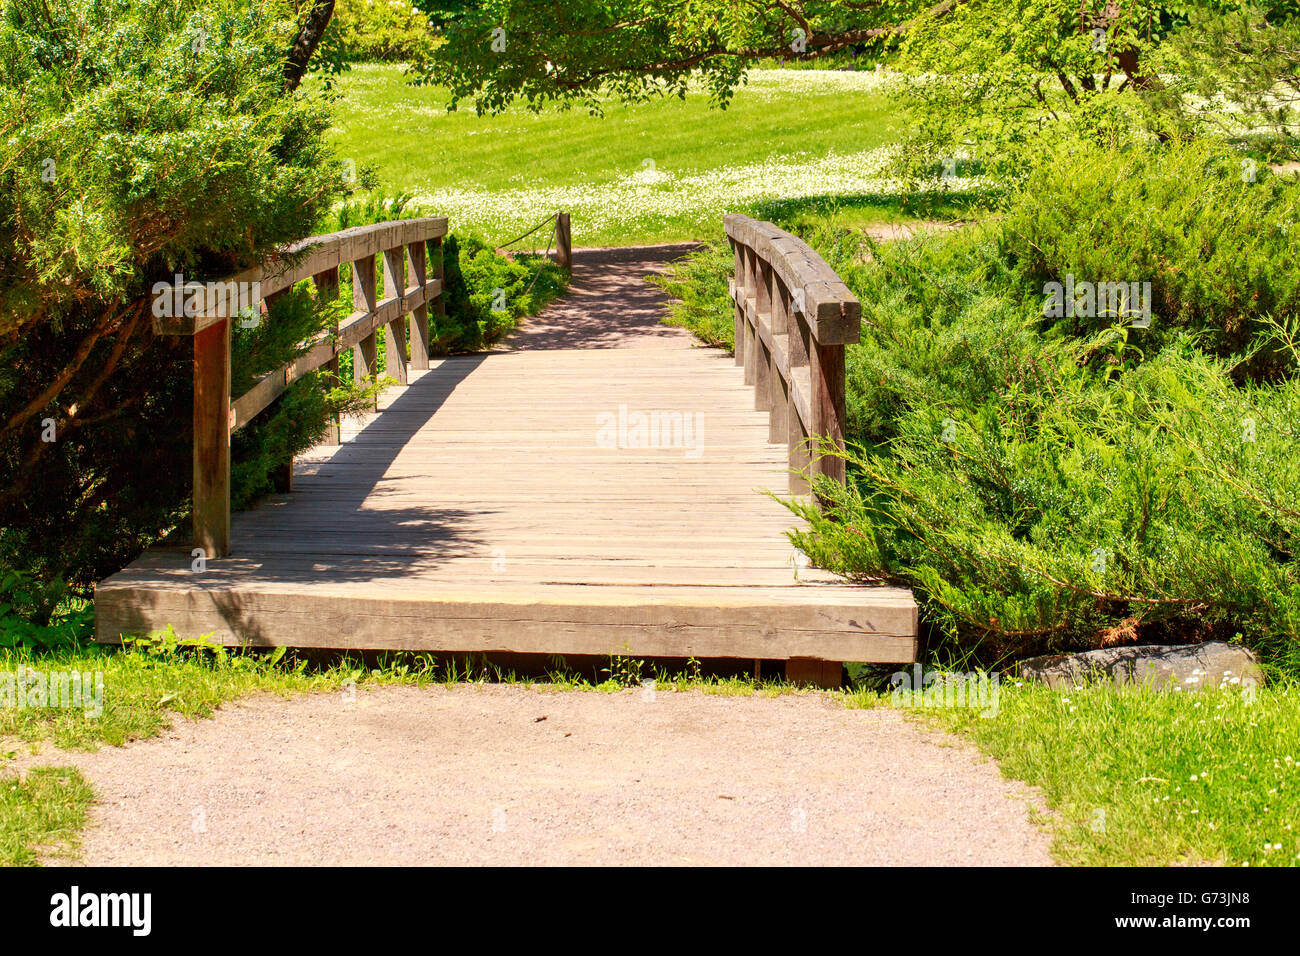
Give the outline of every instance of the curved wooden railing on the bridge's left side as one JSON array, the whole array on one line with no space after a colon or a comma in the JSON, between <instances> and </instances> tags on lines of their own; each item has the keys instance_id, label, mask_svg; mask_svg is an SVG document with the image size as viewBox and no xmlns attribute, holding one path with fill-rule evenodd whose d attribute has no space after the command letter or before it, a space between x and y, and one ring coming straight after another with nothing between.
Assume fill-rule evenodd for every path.
<instances>
[{"instance_id":1,"label":"curved wooden railing on the bridge's left side","mask_svg":"<svg viewBox=\"0 0 1300 956\"><path fill-rule=\"evenodd\" d=\"M442 216L358 226L304 239L270 264L220 282L182 280L153 287L155 330L194 338L194 542L204 557L220 558L230 553L230 434L234 431L308 372L324 368L337 376L338 356L344 350L352 350L354 377L374 375L381 328L387 375L404 382L408 367L429 367L428 319L430 310L436 315L443 311L438 246L446 234L447 220ZM430 248L436 263L432 276L428 268ZM382 290L377 276L380 260ZM312 280L318 298L333 300L338 297L339 269L344 267L352 269L352 313L347 320L321 333L304 355L263 376L244 394L231 395L231 323L260 321L268 303L307 278ZM328 437L339 440L337 421L333 436Z\"/></svg>"}]
</instances>

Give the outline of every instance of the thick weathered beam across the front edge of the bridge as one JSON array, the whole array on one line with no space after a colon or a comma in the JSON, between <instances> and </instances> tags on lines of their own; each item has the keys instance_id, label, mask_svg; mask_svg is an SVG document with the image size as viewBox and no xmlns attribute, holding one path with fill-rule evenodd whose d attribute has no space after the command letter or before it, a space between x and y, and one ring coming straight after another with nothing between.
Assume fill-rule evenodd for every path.
<instances>
[{"instance_id":1,"label":"thick weathered beam across the front edge of the bridge","mask_svg":"<svg viewBox=\"0 0 1300 956\"><path fill-rule=\"evenodd\" d=\"M741 659L798 656L880 663L915 659L909 609L855 609L861 628L853 630L836 624L818 605L746 600L744 593L693 604L672 601L672 588L650 591L656 592L654 602L619 596L590 604L500 589L482 600L416 600L101 588L95 614L101 640L138 633L146 620L166 618L178 635L211 633L212 640L231 646Z\"/></svg>"}]
</instances>

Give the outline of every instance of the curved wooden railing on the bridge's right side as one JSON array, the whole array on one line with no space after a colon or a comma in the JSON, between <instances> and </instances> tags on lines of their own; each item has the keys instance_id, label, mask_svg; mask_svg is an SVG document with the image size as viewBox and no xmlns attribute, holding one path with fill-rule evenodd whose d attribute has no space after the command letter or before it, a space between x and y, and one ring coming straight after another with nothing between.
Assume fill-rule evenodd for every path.
<instances>
[{"instance_id":1,"label":"curved wooden railing on the bridge's right side","mask_svg":"<svg viewBox=\"0 0 1300 956\"><path fill-rule=\"evenodd\" d=\"M736 364L754 386L754 407L768 411L768 441L789 446L790 494L809 492L810 475L844 481L844 346L857 342L862 304L801 239L749 216L723 219L736 255Z\"/></svg>"}]
</instances>

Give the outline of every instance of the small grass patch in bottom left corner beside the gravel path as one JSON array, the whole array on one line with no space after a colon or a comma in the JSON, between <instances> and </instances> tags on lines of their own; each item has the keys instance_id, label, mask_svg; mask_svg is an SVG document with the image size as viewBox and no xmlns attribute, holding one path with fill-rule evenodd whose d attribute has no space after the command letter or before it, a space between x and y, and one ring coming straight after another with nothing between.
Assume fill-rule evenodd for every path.
<instances>
[{"instance_id":1,"label":"small grass patch in bottom left corner beside the gravel path","mask_svg":"<svg viewBox=\"0 0 1300 956\"><path fill-rule=\"evenodd\" d=\"M0 775L0 866L74 856L90 801L90 786L73 767Z\"/></svg>"}]
</instances>

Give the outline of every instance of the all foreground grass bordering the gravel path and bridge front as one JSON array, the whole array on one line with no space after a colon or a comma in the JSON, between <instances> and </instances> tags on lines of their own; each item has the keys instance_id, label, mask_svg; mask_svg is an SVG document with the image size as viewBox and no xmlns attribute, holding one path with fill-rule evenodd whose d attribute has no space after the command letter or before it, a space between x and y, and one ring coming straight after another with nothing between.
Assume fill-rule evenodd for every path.
<instances>
[{"instance_id":1,"label":"all foreground grass bordering the gravel path and bridge front","mask_svg":"<svg viewBox=\"0 0 1300 956\"><path fill-rule=\"evenodd\" d=\"M254 692L295 695L358 685L517 683L554 692L618 693L654 680L658 693L719 696L805 692L780 679L716 678L698 663L668 672L616 657L597 676L556 659L528 678L482 658L394 657L377 667L334 662L309 669L266 656L162 646L82 649L52 657L0 654L17 667L104 674L104 711L0 709L0 769L29 745L92 748L153 736L177 717L209 717ZM846 691L845 706L889 706L888 695ZM1300 689L1261 689L1253 701L1231 692L1175 695L1088 687L1056 693L1037 685L1000 688L997 715L962 709L906 710L968 737L1008 777L1041 788L1053 853L1082 865L1300 864ZM1196 779L1192 779L1192 778ZM32 770L0 780L0 864L73 855L90 787L69 769ZM1280 845L1277 845L1280 844Z\"/></svg>"}]
</instances>

